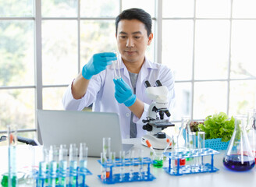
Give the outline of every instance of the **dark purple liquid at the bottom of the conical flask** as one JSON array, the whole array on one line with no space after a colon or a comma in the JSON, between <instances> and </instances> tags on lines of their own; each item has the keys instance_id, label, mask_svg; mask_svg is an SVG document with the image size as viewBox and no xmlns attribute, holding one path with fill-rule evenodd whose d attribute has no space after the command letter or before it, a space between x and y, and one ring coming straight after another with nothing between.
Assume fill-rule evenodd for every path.
<instances>
[{"instance_id":1,"label":"dark purple liquid at the bottom of the conical flask","mask_svg":"<svg viewBox=\"0 0 256 187\"><path fill-rule=\"evenodd\" d=\"M241 163L240 154L231 154L223 158L223 164L226 168L233 171L248 171L254 168L255 160L253 157L244 155L244 163Z\"/></svg>"}]
</instances>

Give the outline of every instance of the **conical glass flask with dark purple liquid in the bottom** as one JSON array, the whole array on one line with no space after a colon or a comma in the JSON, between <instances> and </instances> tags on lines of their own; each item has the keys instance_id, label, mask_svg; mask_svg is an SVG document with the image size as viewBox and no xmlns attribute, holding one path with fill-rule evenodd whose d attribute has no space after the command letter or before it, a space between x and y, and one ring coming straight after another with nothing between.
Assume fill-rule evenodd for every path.
<instances>
[{"instance_id":1,"label":"conical glass flask with dark purple liquid in the bottom","mask_svg":"<svg viewBox=\"0 0 256 187\"><path fill-rule=\"evenodd\" d=\"M251 146L245 131L246 123L246 116L235 117L235 129L223 158L224 166L233 171L248 171L254 168L255 165L254 155L251 152Z\"/></svg>"}]
</instances>

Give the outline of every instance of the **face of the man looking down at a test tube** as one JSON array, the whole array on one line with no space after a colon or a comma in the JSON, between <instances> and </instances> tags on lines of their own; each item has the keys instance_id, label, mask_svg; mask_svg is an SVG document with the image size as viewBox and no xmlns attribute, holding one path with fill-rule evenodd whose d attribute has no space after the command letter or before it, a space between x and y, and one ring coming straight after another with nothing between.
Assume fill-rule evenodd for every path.
<instances>
[{"instance_id":1,"label":"face of the man looking down at a test tube","mask_svg":"<svg viewBox=\"0 0 256 187\"><path fill-rule=\"evenodd\" d=\"M145 51L151 44L153 34L148 37L144 23L137 19L123 19L117 27L117 45L122 55L123 62L141 62L144 60Z\"/></svg>"}]
</instances>

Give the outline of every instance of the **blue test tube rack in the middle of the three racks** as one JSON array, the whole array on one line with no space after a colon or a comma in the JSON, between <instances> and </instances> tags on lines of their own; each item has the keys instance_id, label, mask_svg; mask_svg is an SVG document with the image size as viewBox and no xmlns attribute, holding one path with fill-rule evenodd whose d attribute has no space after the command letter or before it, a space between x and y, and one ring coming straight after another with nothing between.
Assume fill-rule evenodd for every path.
<instances>
[{"instance_id":1,"label":"blue test tube rack in the middle of the three racks","mask_svg":"<svg viewBox=\"0 0 256 187\"><path fill-rule=\"evenodd\" d=\"M115 162L107 160L105 163L101 163L101 160L98 160L98 163L101 164L102 167L109 169L109 176L106 179L101 178L101 175L98 175L98 178L101 180L104 184L115 184L115 183L122 183L122 182L147 182L147 181L153 181L155 179L155 176L151 174L150 165L152 164L151 158L149 157L134 157L133 159L125 158L122 162L121 159L116 158ZM132 161L131 161L132 160ZM130 173L124 173L124 177L122 180L121 174L116 173L113 174L113 168L119 168L119 167L129 167L130 165L133 166L140 166L140 165L147 165L147 171L143 171L142 176L140 177L139 172L133 172L133 178L130 178Z\"/></svg>"}]
</instances>

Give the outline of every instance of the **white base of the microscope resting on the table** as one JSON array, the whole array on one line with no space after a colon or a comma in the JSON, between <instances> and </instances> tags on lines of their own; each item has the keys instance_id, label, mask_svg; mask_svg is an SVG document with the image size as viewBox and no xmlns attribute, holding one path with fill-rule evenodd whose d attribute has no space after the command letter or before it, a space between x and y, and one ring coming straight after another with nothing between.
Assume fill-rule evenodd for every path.
<instances>
[{"instance_id":1,"label":"white base of the microscope resting on the table","mask_svg":"<svg viewBox=\"0 0 256 187\"><path fill-rule=\"evenodd\" d=\"M166 139L171 140L171 138L168 135L166 135L165 139L159 139L154 135L147 134L147 135L142 136L141 144L144 146L147 146L146 141L148 140L155 150L164 150L165 147L167 146ZM171 148L171 146L169 146L169 148Z\"/></svg>"}]
</instances>

